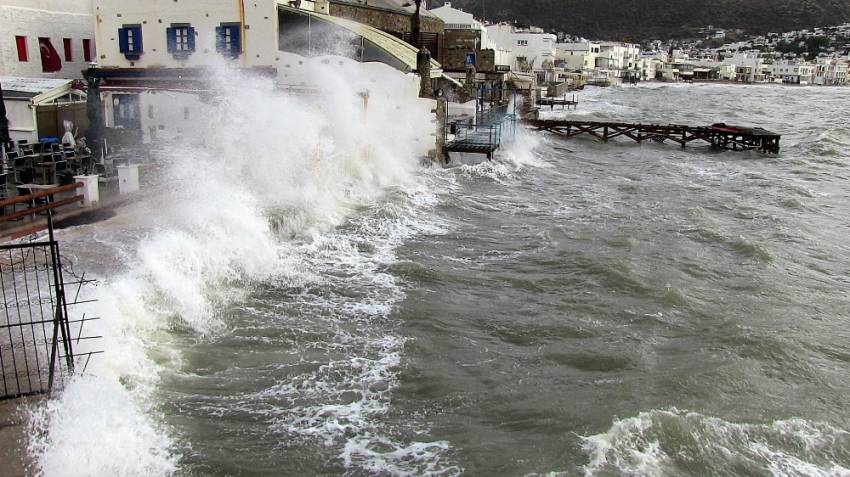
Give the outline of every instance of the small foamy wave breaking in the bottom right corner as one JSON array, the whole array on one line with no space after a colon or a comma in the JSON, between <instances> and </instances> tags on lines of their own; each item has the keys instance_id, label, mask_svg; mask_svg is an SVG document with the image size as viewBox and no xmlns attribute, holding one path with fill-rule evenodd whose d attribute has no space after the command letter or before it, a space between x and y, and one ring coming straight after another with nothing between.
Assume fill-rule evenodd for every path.
<instances>
[{"instance_id":1,"label":"small foamy wave breaking in the bottom right corner","mask_svg":"<svg viewBox=\"0 0 850 477\"><path fill-rule=\"evenodd\" d=\"M675 408L652 410L583 440L588 476L850 473L850 432L804 419L742 424Z\"/></svg>"}]
</instances>

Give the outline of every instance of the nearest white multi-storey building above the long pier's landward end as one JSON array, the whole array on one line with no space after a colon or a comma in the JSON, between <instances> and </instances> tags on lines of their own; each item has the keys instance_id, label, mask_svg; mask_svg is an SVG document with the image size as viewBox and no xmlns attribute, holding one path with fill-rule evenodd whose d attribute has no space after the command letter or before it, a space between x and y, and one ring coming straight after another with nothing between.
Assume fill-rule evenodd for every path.
<instances>
[{"instance_id":1,"label":"nearest white multi-storey building above the long pier's landward end","mask_svg":"<svg viewBox=\"0 0 850 477\"><path fill-rule=\"evenodd\" d=\"M507 23L488 25L487 33L499 48L512 51L511 68L516 71L543 72L555 66L557 37L551 33Z\"/></svg>"}]
</instances>

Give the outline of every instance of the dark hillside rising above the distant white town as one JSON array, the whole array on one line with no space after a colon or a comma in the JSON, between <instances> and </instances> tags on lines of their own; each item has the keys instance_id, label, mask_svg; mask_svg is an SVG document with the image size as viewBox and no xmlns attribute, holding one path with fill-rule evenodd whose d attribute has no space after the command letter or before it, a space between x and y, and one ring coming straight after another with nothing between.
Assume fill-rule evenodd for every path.
<instances>
[{"instance_id":1,"label":"dark hillside rising above the distant white town","mask_svg":"<svg viewBox=\"0 0 850 477\"><path fill-rule=\"evenodd\" d=\"M629 41L688 37L706 25L766 33L850 21L850 0L452 0L452 5L476 17L486 12L491 21Z\"/></svg>"}]
</instances>

